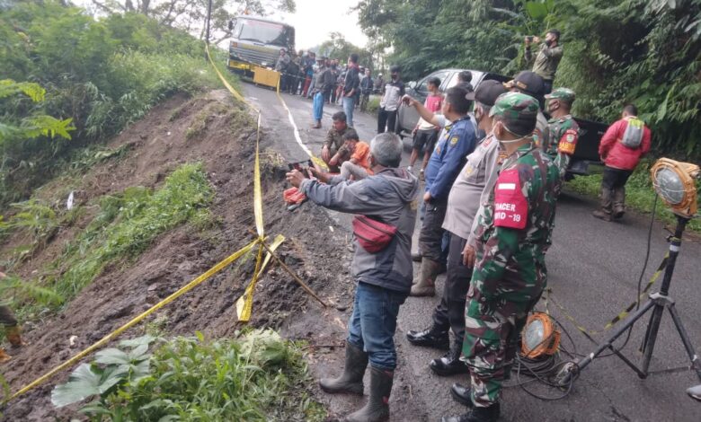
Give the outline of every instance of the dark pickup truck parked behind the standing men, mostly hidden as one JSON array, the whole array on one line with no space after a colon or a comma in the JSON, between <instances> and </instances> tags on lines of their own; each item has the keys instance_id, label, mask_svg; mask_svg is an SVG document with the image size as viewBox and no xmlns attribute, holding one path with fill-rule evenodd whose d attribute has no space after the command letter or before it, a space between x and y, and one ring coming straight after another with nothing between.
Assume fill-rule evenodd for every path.
<instances>
[{"instance_id":1,"label":"dark pickup truck parked behind the standing men, mostly hidden","mask_svg":"<svg viewBox=\"0 0 701 422\"><path fill-rule=\"evenodd\" d=\"M457 85L457 74L469 69L441 69L427 75L419 82L410 82L407 84L406 93L418 101L424 101L429 94L428 81L432 77L440 79L440 91L446 92L448 88ZM510 77L504 75L493 74L490 72L482 72L479 70L470 70L472 72L471 84L476 88L482 81L495 80L501 83L511 80ZM547 115L546 115L547 117ZM577 148L574 150L570 167L567 169L566 180L571 180L575 175L589 174L589 165L591 163L601 163L599 158L599 143L601 136L604 135L607 125L599 122L594 122L585 119L574 118L580 125L580 139L577 142ZM419 121L419 113L413 107L409 107L402 103L397 110L395 133L400 137L412 136L413 128Z\"/></svg>"}]
</instances>

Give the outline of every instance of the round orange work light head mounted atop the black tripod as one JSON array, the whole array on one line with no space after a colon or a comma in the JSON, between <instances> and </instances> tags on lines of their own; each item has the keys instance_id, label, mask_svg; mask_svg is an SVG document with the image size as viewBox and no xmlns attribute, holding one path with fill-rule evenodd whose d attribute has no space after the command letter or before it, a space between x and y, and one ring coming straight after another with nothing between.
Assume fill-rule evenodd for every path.
<instances>
[{"instance_id":1,"label":"round orange work light head mounted atop the black tripod","mask_svg":"<svg viewBox=\"0 0 701 422\"><path fill-rule=\"evenodd\" d=\"M701 175L701 169L696 164L661 158L652 166L650 173L652 186L674 214L686 218L697 214L695 179Z\"/></svg>"}]
</instances>

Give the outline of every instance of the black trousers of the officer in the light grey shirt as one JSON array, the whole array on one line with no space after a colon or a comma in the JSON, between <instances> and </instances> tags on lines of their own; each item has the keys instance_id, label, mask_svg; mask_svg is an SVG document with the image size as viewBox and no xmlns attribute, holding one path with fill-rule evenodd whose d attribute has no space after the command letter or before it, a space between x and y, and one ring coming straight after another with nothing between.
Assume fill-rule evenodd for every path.
<instances>
[{"instance_id":1,"label":"black trousers of the officer in the light grey shirt","mask_svg":"<svg viewBox=\"0 0 701 422\"><path fill-rule=\"evenodd\" d=\"M433 323L442 330L453 330L457 344L462 347L465 338L465 304L467 289L472 279L472 268L463 265L466 240L450 233L448 272L443 297L433 311Z\"/></svg>"}]
</instances>

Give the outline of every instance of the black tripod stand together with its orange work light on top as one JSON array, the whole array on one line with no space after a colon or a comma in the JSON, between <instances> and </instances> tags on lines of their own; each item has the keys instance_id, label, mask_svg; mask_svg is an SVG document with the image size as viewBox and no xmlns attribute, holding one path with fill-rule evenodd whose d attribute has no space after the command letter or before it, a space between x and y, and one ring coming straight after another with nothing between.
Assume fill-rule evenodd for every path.
<instances>
[{"instance_id":1,"label":"black tripod stand together with its orange work light on top","mask_svg":"<svg viewBox=\"0 0 701 422\"><path fill-rule=\"evenodd\" d=\"M691 363L690 368L696 371L698 379L701 380L701 362L699 362L699 356L695 352L694 347L691 345L691 341L688 338L687 330L684 329L684 325L682 324L681 319L679 318L679 313L677 312L677 308L675 307L674 299L670 297L671 279L672 275L674 274L674 267L677 262L677 256L679 255L679 250L681 248L681 236L684 233L684 229L686 228L689 220L691 220L691 217L697 211L696 187L693 185L692 182L691 187L693 187L693 190L691 188L685 189L684 197L682 199L679 199L678 202L675 202L677 201L677 199L669 199L671 198L670 193L672 195L677 195L679 194L679 192L681 192L681 190L666 189L666 187L663 186L657 178L658 171L668 171L669 175L669 171L672 171L672 169L679 168L681 168L683 171L674 170L674 172L681 180L679 185L681 185L683 182L687 182L688 185L688 180L698 177L699 172L697 166L684 167L683 165L679 164L686 163L676 163L663 158L652 168L652 182L655 186L655 189L658 191L658 194L660 194L662 199L665 200L665 202L668 205L670 205L670 207L672 207L675 214L677 215L677 228L675 229L674 234L670 235L667 239L668 242L670 242L670 256L668 259L667 268L665 268L664 271L664 278L662 279L662 286L660 288L660 292L652 293L650 295L650 300L647 303L645 303L642 308L634 312L634 314L632 314L628 318L626 323L618 327L618 329L614 331L611 337L604 341L599 346L599 348L597 348L593 353L584 357L579 362L572 362L564 365L560 373L557 374L557 382L560 385L566 385L567 383L572 382L572 378L574 376L579 374L579 372L582 369L589 365L597 356L601 354L601 352L603 352L606 349L610 349L616 356L618 356L624 363L626 363L626 365L630 366L630 368L633 369L635 374L637 374L640 378L647 378L647 376L650 374L648 368L650 367L652 352L655 347L655 342L657 341L657 333L660 330L662 313L665 309L667 309L670 312L672 321L674 321L674 326L677 328L677 332L679 332L679 337L681 338L681 341L684 344L684 348L687 350L687 355ZM686 177L687 174L688 180ZM665 180L665 182L669 180L670 179L668 178L668 180ZM675 188L677 188L677 186L675 186ZM650 322L648 322L647 330L645 330L645 338L643 339L643 345L640 347L640 351L643 353L643 365L642 367L638 367L630 359L628 359L620 351L618 351L617 348L613 347L613 343L614 341L616 341L617 338L621 337L627 330L630 330L634 326L635 322L643 318L643 315L645 313L650 311L652 311L652 317L650 319Z\"/></svg>"}]
</instances>

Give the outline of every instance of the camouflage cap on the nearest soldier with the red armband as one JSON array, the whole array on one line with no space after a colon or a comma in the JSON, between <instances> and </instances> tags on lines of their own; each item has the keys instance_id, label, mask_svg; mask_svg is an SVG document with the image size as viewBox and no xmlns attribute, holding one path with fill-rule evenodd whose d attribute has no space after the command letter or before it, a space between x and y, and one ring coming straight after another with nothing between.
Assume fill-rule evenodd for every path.
<instances>
[{"instance_id":1,"label":"camouflage cap on the nearest soldier with the red armband","mask_svg":"<svg viewBox=\"0 0 701 422\"><path fill-rule=\"evenodd\" d=\"M489 116L499 116L511 133L528 136L536 128L538 101L521 92L506 92L494 102Z\"/></svg>"}]
</instances>

